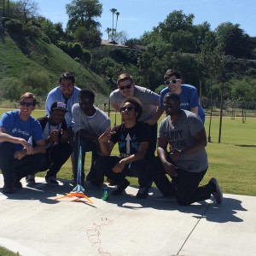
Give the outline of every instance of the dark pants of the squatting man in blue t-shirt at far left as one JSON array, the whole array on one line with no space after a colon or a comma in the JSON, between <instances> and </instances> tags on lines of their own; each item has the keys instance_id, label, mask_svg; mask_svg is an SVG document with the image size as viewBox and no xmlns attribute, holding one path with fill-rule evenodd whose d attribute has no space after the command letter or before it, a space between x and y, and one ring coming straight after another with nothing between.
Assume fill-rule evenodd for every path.
<instances>
[{"instance_id":1,"label":"dark pants of the squatting man in blue t-shirt at far left","mask_svg":"<svg viewBox=\"0 0 256 256\"><path fill-rule=\"evenodd\" d=\"M29 174L40 172L46 164L44 154L30 154L21 160L14 158L15 144L2 143L0 145L0 167L3 172L4 183L12 183L14 178L20 180Z\"/></svg>"}]
</instances>

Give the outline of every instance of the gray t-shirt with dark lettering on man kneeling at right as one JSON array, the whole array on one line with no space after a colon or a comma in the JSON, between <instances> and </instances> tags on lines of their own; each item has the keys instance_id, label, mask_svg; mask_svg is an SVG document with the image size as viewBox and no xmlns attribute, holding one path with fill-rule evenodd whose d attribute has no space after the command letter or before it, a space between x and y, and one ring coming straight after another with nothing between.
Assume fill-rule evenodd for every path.
<instances>
[{"instance_id":1,"label":"gray t-shirt with dark lettering on man kneeling at right","mask_svg":"<svg viewBox=\"0 0 256 256\"><path fill-rule=\"evenodd\" d=\"M193 136L202 129L204 129L204 125L198 115L188 110L182 110L176 125L172 125L170 116L161 121L158 137L166 137L171 147L180 151L194 144ZM187 172L206 171L208 168L207 151L205 148L201 148L193 154L183 154L175 164Z\"/></svg>"}]
</instances>

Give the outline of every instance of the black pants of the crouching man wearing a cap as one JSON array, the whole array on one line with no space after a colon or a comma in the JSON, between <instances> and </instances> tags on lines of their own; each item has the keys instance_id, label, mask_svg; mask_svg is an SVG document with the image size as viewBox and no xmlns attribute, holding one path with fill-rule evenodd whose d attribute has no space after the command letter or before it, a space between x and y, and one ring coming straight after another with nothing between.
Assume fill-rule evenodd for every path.
<instances>
[{"instance_id":1,"label":"black pants of the crouching man wearing a cap","mask_svg":"<svg viewBox=\"0 0 256 256\"><path fill-rule=\"evenodd\" d=\"M61 167L67 162L72 147L69 143L60 143L46 149L46 165L42 171L47 172L47 177L56 177L56 174L61 170Z\"/></svg>"}]
</instances>

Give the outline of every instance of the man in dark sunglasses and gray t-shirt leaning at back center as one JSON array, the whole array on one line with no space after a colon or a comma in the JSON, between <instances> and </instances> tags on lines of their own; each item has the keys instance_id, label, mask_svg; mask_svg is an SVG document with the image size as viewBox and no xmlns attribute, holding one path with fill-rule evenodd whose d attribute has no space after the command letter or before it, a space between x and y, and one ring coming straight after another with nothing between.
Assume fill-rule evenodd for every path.
<instances>
[{"instance_id":1,"label":"man in dark sunglasses and gray t-shirt leaning at back center","mask_svg":"<svg viewBox=\"0 0 256 256\"><path fill-rule=\"evenodd\" d=\"M143 113L139 121L149 125L152 140L149 143L148 151L151 157L154 157L157 136L157 109L160 104L160 96L145 87L135 85L133 78L129 73L122 73L117 79L118 89L110 94L111 106L120 111L122 102L128 97L136 97L143 107Z\"/></svg>"}]
</instances>

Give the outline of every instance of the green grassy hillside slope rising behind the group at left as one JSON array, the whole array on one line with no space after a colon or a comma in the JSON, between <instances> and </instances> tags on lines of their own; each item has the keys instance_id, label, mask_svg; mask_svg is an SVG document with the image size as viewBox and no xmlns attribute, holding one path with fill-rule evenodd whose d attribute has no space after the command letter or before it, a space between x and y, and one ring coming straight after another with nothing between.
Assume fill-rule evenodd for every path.
<instances>
[{"instance_id":1,"label":"green grassy hillside slope rising behind the group at left","mask_svg":"<svg viewBox=\"0 0 256 256\"><path fill-rule=\"evenodd\" d=\"M25 81L18 86L27 88L27 78L35 81L41 79L39 84L44 88L41 100L44 101L47 92L58 83L60 74L66 71L75 74L79 87L90 88L96 93L96 103L108 102L108 85L103 79L82 67L54 44L27 38L19 42L7 33L0 40L0 95L6 93L5 90L14 90L14 81L19 81L18 84L20 80ZM37 93L38 89L32 92Z\"/></svg>"}]
</instances>

